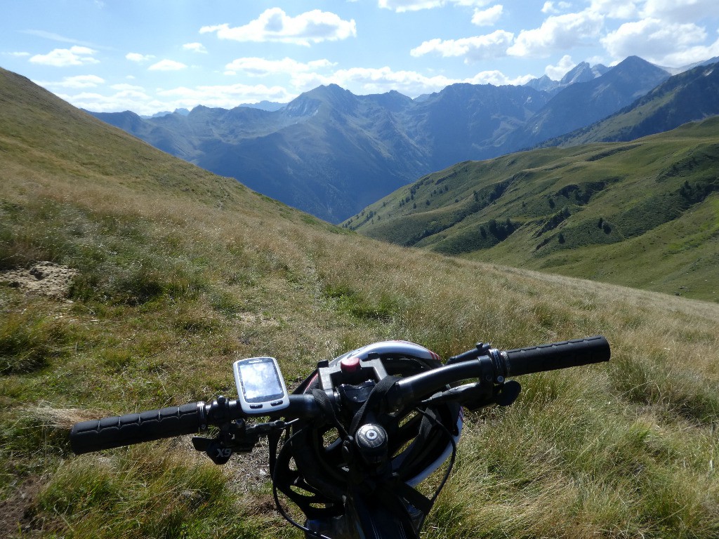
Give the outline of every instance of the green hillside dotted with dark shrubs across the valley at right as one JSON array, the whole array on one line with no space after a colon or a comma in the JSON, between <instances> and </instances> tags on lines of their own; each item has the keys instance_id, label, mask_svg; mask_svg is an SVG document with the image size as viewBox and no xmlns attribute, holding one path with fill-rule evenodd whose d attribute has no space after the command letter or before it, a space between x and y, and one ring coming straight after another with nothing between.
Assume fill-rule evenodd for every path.
<instances>
[{"instance_id":1,"label":"green hillside dotted with dark shrubs across the valley at right","mask_svg":"<svg viewBox=\"0 0 719 539\"><path fill-rule=\"evenodd\" d=\"M464 162L345 222L442 254L719 301L719 117Z\"/></svg>"}]
</instances>

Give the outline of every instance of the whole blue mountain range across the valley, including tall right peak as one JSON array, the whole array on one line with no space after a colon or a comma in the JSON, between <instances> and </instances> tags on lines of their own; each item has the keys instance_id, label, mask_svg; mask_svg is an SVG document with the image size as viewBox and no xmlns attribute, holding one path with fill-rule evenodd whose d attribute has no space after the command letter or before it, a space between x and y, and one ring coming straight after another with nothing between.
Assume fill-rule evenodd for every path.
<instances>
[{"instance_id":1,"label":"whole blue mountain range across the valley, including tall right peak","mask_svg":"<svg viewBox=\"0 0 719 539\"><path fill-rule=\"evenodd\" d=\"M613 68L581 63L558 83L454 84L416 99L396 91L356 96L329 85L275 111L198 106L149 119L130 111L93 114L165 152L338 223L429 172L590 126L670 76L628 57Z\"/></svg>"}]
</instances>

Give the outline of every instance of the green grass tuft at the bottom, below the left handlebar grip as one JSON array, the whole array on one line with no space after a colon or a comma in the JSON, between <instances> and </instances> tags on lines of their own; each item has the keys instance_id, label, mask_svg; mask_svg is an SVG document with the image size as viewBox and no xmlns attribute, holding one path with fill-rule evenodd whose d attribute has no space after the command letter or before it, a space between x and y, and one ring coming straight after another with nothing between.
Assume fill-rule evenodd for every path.
<instances>
[{"instance_id":1,"label":"green grass tuft at the bottom, below the left handlebar grip","mask_svg":"<svg viewBox=\"0 0 719 539\"><path fill-rule=\"evenodd\" d=\"M260 538L276 518L248 519L217 466L142 449L60 466L33 506L35 522L68 538Z\"/></svg>"}]
</instances>

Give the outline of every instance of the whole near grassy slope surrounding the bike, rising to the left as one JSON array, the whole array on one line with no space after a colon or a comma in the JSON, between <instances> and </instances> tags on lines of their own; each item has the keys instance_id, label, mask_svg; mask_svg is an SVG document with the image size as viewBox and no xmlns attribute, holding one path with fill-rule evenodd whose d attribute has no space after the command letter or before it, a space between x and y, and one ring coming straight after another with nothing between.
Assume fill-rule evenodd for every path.
<instances>
[{"instance_id":1,"label":"whole near grassy slope surrounding the bike, rising to the left","mask_svg":"<svg viewBox=\"0 0 719 539\"><path fill-rule=\"evenodd\" d=\"M3 537L298 537L263 451L76 457L68 428L233 395L237 355L277 356L295 383L382 338L448 356L594 333L610 364L523 377L515 405L467 416L426 537L719 534L718 305L343 234L4 71L0 155L3 270L77 270L64 299L0 277Z\"/></svg>"}]
</instances>

